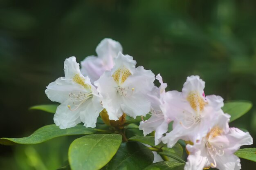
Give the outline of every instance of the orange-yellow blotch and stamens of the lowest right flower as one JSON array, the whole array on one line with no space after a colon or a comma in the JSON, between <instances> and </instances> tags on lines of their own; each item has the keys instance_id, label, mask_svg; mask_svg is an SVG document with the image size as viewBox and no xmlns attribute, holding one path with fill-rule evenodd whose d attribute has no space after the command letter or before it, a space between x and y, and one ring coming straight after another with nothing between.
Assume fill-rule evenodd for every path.
<instances>
[{"instance_id":1,"label":"orange-yellow blotch and stamens of the lowest right flower","mask_svg":"<svg viewBox=\"0 0 256 170\"><path fill-rule=\"evenodd\" d=\"M224 150L222 145L220 146L214 145L211 143L210 139L214 139L215 137L221 135L222 132L223 130L220 127L216 126L211 129L211 131L207 134L204 140L204 144L207 148L207 155L209 155L213 160L213 162L211 163L212 168L216 168L217 166L216 160L215 160L216 155L218 156L224 155Z\"/></svg>"}]
</instances>

